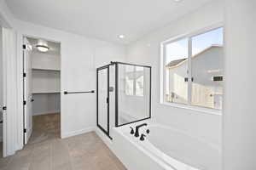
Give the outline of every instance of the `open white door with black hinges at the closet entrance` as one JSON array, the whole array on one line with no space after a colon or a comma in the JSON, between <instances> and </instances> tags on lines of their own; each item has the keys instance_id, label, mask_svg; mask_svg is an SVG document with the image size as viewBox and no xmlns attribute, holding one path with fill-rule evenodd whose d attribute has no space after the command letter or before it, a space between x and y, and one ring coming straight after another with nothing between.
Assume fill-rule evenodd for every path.
<instances>
[{"instance_id":1,"label":"open white door with black hinges at the closet entrance","mask_svg":"<svg viewBox=\"0 0 256 170\"><path fill-rule=\"evenodd\" d=\"M24 144L32 134L32 46L23 40L23 98L24 98Z\"/></svg>"}]
</instances>

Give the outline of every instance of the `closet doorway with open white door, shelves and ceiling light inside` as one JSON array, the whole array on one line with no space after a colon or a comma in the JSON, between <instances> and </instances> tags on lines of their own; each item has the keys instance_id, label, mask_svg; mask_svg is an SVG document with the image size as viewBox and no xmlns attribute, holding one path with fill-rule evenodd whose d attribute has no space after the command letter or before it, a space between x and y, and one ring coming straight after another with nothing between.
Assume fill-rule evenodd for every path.
<instances>
[{"instance_id":1,"label":"closet doorway with open white door, shelves and ceiling light inside","mask_svg":"<svg viewBox=\"0 0 256 170\"><path fill-rule=\"evenodd\" d=\"M24 144L61 138L61 43L23 39Z\"/></svg>"}]
</instances>

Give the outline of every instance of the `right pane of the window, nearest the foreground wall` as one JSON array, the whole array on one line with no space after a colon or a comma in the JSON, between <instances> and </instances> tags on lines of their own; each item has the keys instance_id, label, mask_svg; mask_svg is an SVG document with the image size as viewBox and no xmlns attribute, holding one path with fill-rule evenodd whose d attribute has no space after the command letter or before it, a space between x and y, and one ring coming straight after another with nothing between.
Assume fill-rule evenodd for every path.
<instances>
[{"instance_id":1,"label":"right pane of the window, nearest the foreground wall","mask_svg":"<svg viewBox=\"0 0 256 170\"><path fill-rule=\"evenodd\" d=\"M223 28L192 37L191 105L222 109Z\"/></svg>"}]
</instances>

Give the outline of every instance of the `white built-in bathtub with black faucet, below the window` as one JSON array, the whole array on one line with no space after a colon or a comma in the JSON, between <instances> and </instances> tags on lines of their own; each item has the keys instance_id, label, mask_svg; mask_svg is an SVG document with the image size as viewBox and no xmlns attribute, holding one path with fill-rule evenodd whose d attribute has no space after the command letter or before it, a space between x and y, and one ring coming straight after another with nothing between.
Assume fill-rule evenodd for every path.
<instances>
[{"instance_id":1,"label":"white built-in bathtub with black faucet, below the window","mask_svg":"<svg viewBox=\"0 0 256 170\"><path fill-rule=\"evenodd\" d=\"M113 151L128 170L221 169L221 150L217 144L150 122L147 127L140 129L141 133L150 130L146 139L140 141L130 134L130 127L142 123L113 130Z\"/></svg>"}]
</instances>

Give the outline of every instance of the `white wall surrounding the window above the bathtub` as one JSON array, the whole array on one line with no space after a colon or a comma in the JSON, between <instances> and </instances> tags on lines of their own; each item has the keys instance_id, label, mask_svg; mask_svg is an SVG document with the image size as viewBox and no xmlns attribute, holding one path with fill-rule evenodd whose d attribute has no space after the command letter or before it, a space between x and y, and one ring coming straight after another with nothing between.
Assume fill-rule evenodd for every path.
<instances>
[{"instance_id":1,"label":"white wall surrounding the window above the bathtub","mask_svg":"<svg viewBox=\"0 0 256 170\"><path fill-rule=\"evenodd\" d=\"M126 58L127 61L132 63L152 65L152 111L154 120L177 127L191 135L200 136L217 144L221 143L221 116L160 104L160 42L212 26L223 22L223 20L222 1L213 1L194 13L173 21L169 26L131 43L127 48Z\"/></svg>"}]
</instances>

